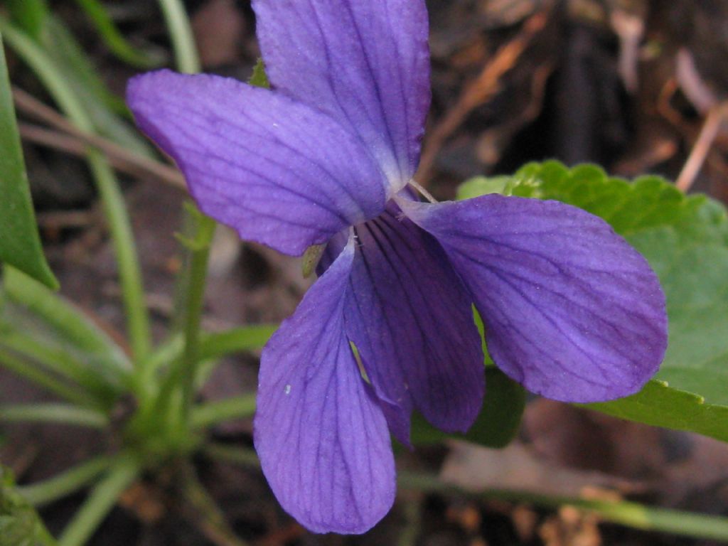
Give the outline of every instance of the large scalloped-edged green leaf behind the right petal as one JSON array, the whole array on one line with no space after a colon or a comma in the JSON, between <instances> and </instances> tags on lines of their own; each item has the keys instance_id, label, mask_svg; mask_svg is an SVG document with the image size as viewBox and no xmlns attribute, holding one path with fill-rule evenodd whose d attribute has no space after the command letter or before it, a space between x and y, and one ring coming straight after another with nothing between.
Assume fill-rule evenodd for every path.
<instances>
[{"instance_id":1,"label":"large scalloped-edged green leaf behind the right petal","mask_svg":"<svg viewBox=\"0 0 728 546\"><path fill-rule=\"evenodd\" d=\"M670 337L654 381L636 395L587 407L728 441L725 208L703 195L686 197L657 176L629 183L594 165L534 163L508 186L513 195L558 199L601 216L647 258L665 290ZM459 197L493 187L475 179L461 186Z\"/></svg>"}]
</instances>

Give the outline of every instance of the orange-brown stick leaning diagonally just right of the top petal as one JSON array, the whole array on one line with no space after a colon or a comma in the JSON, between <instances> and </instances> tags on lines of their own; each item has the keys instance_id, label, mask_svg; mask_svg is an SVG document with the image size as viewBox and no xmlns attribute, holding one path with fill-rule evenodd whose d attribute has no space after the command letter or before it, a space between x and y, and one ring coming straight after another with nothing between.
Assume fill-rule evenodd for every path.
<instances>
[{"instance_id":1,"label":"orange-brown stick leaning diagonally just right of the top petal","mask_svg":"<svg viewBox=\"0 0 728 546\"><path fill-rule=\"evenodd\" d=\"M500 47L494 57L483 66L483 70L480 71L478 77L465 86L455 106L430 132L415 177L419 183L427 186L427 182L432 175L435 157L443 144L464 122L470 112L488 102L499 91L502 76L513 68L534 36L545 27L547 20L547 12L538 12L531 15L529 20L526 20L526 23L523 24L523 29L518 33L518 36Z\"/></svg>"}]
</instances>

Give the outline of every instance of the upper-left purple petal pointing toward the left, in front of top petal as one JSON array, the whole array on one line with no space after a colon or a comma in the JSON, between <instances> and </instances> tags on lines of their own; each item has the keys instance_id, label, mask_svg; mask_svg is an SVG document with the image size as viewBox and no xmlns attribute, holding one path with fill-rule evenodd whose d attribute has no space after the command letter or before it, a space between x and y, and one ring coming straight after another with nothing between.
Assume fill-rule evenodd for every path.
<instances>
[{"instance_id":1,"label":"upper-left purple petal pointing toward the left, in front of top petal","mask_svg":"<svg viewBox=\"0 0 728 546\"><path fill-rule=\"evenodd\" d=\"M384 208L387 182L358 138L283 95L157 71L130 80L127 102L202 211L243 239L301 254Z\"/></svg>"}]
</instances>

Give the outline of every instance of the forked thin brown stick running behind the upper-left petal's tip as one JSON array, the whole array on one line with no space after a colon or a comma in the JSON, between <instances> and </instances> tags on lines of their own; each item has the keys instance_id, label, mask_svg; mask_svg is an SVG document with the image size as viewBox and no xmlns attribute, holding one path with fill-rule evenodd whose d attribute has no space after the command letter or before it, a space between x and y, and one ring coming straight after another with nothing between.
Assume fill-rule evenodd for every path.
<instances>
[{"instance_id":1,"label":"forked thin brown stick running behind the upper-left petal's tip","mask_svg":"<svg viewBox=\"0 0 728 546\"><path fill-rule=\"evenodd\" d=\"M186 188L183 175L174 167L170 167L154 159L149 159L148 157L141 157L106 138L79 130L53 108L46 106L36 98L33 98L32 95L17 87L13 88L12 96L18 111L23 112L27 116L31 116L33 119L49 124L51 127L55 127L60 131L60 133L54 133L44 130L41 127L25 125L26 138L36 138L36 141L39 143L63 149L72 154L79 154L80 141L84 153L87 146L92 146L102 151L103 154L106 154L111 164L119 169L125 166L126 168L124 170L132 174L151 175L159 181L169 183L177 188ZM75 141L71 141L68 138L61 138L63 133L66 136L71 135Z\"/></svg>"}]
</instances>

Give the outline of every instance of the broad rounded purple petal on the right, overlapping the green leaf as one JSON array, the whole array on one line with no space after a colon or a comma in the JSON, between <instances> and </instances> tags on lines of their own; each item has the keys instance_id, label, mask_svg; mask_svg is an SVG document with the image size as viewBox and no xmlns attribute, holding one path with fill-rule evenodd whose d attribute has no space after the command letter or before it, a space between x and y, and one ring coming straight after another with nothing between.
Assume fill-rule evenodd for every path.
<instances>
[{"instance_id":1,"label":"broad rounded purple petal on the right, overlapping the green leaf","mask_svg":"<svg viewBox=\"0 0 728 546\"><path fill-rule=\"evenodd\" d=\"M646 260L600 218L500 195L403 208L442 243L483 317L488 352L527 389L612 400L657 371L665 296Z\"/></svg>"}]
</instances>

